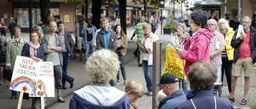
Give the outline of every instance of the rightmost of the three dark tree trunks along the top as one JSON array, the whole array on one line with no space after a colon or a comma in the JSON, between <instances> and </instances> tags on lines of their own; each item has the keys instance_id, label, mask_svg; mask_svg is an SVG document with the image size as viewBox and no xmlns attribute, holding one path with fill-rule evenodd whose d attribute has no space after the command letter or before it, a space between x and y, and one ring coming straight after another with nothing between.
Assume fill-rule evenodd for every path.
<instances>
[{"instance_id":1,"label":"rightmost of the three dark tree trunks along the top","mask_svg":"<svg viewBox=\"0 0 256 109\"><path fill-rule=\"evenodd\" d=\"M118 0L120 22L124 33L126 33L126 0Z\"/></svg>"}]
</instances>

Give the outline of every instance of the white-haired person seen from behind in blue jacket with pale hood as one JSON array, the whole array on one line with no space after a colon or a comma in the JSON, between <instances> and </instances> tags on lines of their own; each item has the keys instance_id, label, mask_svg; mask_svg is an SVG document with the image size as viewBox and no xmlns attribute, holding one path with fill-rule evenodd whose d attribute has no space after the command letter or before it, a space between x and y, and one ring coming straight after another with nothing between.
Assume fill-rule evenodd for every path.
<instances>
[{"instance_id":1,"label":"white-haired person seen from behind in blue jacket with pale hood","mask_svg":"<svg viewBox=\"0 0 256 109\"><path fill-rule=\"evenodd\" d=\"M86 62L86 72L93 84L74 91L70 109L128 109L130 100L126 92L111 87L110 80L119 69L118 55L109 49L94 52Z\"/></svg>"}]
</instances>

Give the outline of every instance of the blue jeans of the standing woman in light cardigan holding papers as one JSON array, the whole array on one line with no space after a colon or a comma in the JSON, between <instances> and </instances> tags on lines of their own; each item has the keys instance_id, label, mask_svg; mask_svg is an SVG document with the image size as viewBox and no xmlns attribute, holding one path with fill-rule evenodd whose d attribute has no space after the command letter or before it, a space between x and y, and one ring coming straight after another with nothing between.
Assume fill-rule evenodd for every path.
<instances>
[{"instance_id":1,"label":"blue jeans of the standing woman in light cardigan holding papers","mask_svg":"<svg viewBox=\"0 0 256 109\"><path fill-rule=\"evenodd\" d=\"M142 60L142 68L143 68L143 72L144 72L144 77L146 80L146 88L147 91L152 92L152 72L153 72L153 66L152 65L148 65L148 61L147 60Z\"/></svg>"}]
</instances>

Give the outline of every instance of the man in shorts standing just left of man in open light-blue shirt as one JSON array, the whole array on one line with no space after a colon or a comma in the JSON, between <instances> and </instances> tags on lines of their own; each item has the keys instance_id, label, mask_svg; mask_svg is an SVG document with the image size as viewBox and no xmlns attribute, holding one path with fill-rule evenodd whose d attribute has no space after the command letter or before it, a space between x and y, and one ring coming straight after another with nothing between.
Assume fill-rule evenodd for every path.
<instances>
[{"instance_id":1,"label":"man in shorts standing just left of man in open light-blue shirt","mask_svg":"<svg viewBox=\"0 0 256 109\"><path fill-rule=\"evenodd\" d=\"M85 37L82 34L82 29L87 25L86 21L84 21L82 15L78 15L78 22L74 25L74 37L77 38L77 46L79 49L79 61L82 61L82 45L83 49L86 49L85 45Z\"/></svg>"}]
</instances>

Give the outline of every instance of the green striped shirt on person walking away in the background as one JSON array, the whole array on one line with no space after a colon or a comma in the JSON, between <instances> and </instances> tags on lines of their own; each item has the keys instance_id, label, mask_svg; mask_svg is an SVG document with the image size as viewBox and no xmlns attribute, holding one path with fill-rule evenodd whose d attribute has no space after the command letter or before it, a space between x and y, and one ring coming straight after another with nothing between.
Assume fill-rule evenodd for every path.
<instances>
[{"instance_id":1,"label":"green striped shirt on person walking away in the background","mask_svg":"<svg viewBox=\"0 0 256 109\"><path fill-rule=\"evenodd\" d=\"M142 37L144 35L144 30L143 30L143 25L147 24L146 21L140 21L136 27L135 27L135 32L137 33L137 43L142 42Z\"/></svg>"}]
</instances>

